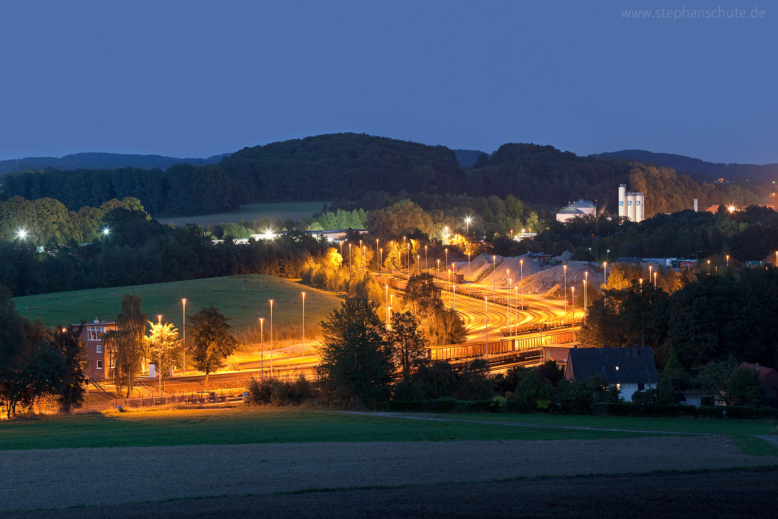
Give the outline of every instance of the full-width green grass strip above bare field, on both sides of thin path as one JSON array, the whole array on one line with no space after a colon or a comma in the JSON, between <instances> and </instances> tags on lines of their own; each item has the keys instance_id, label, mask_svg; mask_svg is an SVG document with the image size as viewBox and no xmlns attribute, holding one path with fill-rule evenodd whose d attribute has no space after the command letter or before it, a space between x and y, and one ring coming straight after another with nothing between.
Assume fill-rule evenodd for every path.
<instances>
[{"instance_id":1,"label":"full-width green grass strip above bare field, on both sides of thin path","mask_svg":"<svg viewBox=\"0 0 778 519\"><path fill-rule=\"evenodd\" d=\"M428 417L435 419L419 419ZM330 441L566 440L640 437L654 435L652 431L674 431L728 434L748 454L775 456L778 449L751 436L775 434L775 429L774 424L745 420L491 414L414 415L414 419L405 419L300 409L177 409L3 422L0 450Z\"/></svg>"}]
</instances>

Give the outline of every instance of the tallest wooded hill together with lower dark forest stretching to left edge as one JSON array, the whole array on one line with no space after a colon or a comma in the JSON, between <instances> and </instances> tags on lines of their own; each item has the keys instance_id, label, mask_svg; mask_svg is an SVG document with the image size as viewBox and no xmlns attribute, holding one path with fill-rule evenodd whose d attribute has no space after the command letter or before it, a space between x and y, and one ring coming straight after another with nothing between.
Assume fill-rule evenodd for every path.
<instances>
[{"instance_id":1,"label":"tallest wooded hill together with lower dark forest stretching to left edge","mask_svg":"<svg viewBox=\"0 0 778 519\"><path fill-rule=\"evenodd\" d=\"M355 133L244 148L218 164L29 170L3 175L0 198L55 198L76 211L138 198L152 215L209 214L251 202L361 198L368 192L460 194L464 172L444 146Z\"/></svg>"}]
</instances>

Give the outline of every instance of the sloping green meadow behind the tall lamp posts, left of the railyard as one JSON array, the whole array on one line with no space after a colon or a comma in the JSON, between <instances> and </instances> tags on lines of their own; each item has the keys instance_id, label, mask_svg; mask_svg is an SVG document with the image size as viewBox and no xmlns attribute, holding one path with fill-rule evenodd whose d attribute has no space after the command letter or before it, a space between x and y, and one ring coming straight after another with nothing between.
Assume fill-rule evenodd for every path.
<instances>
[{"instance_id":1,"label":"sloping green meadow behind the tall lamp posts, left of the railyard","mask_svg":"<svg viewBox=\"0 0 778 519\"><path fill-rule=\"evenodd\" d=\"M339 304L338 298L330 293L289 279L261 274L47 293L16 297L14 303L24 317L33 321L40 319L47 326L58 326L79 324L82 320L91 322L95 317L114 321L121 311L121 297L124 293L131 293L143 296L141 308L149 314L149 320L156 321L156 315L162 314L163 321L180 327L183 318L181 298L185 297L187 317L212 304L223 315L232 318L230 325L233 328L244 330L256 326L258 317L265 317L265 326L268 326L270 299L275 301L274 327L300 323L303 290L306 293L306 328L309 323L326 318Z\"/></svg>"}]
</instances>

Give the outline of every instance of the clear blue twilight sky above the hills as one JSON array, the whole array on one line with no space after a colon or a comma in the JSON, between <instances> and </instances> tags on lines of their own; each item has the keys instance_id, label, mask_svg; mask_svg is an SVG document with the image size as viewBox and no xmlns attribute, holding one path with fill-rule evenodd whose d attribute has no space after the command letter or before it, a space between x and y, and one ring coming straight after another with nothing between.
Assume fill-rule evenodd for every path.
<instances>
[{"instance_id":1,"label":"clear blue twilight sky above the hills","mask_svg":"<svg viewBox=\"0 0 778 519\"><path fill-rule=\"evenodd\" d=\"M778 5L761 3L3 2L0 160L366 132L778 162ZM747 17L689 17L719 5Z\"/></svg>"}]
</instances>

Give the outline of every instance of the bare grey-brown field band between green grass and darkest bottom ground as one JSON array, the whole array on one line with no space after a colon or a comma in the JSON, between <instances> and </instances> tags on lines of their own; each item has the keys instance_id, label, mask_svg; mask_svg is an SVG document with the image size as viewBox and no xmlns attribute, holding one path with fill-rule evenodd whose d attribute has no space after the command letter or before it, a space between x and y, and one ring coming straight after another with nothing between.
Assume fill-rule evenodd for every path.
<instances>
[{"instance_id":1,"label":"bare grey-brown field band between green grass and darkest bottom ground","mask_svg":"<svg viewBox=\"0 0 778 519\"><path fill-rule=\"evenodd\" d=\"M774 463L724 437L2 451L0 510Z\"/></svg>"}]
</instances>

